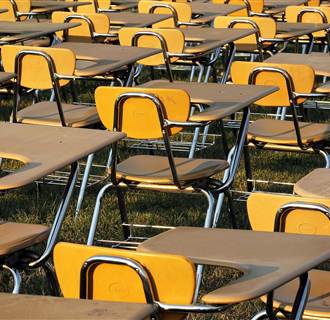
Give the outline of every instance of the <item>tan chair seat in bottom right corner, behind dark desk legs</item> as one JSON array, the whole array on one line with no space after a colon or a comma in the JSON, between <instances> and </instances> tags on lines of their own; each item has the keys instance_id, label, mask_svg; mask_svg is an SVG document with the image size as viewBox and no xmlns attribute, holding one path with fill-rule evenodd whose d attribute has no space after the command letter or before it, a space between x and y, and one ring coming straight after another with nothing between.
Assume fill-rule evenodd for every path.
<instances>
[{"instance_id":1,"label":"tan chair seat in bottom right corner, behind dark desk legs","mask_svg":"<svg viewBox=\"0 0 330 320\"><path fill-rule=\"evenodd\" d=\"M304 311L306 316L315 319L330 318L330 272L321 270L311 270L309 273L311 280L311 291ZM274 293L274 307L281 307L290 312L292 310L293 299L298 289L299 280L294 280L285 286L276 289ZM266 297L262 300L266 302Z\"/></svg>"}]
</instances>

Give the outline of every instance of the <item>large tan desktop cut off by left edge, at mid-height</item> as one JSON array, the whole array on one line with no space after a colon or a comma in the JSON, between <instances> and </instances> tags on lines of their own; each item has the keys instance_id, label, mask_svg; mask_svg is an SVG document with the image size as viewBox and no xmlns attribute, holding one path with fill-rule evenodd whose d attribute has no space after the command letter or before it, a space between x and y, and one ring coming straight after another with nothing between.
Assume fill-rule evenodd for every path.
<instances>
[{"instance_id":1,"label":"large tan desktop cut off by left edge, at mid-height","mask_svg":"<svg viewBox=\"0 0 330 320\"><path fill-rule=\"evenodd\" d=\"M0 122L0 157L23 162L0 178L0 190L22 187L125 137L121 132Z\"/></svg>"}]
</instances>

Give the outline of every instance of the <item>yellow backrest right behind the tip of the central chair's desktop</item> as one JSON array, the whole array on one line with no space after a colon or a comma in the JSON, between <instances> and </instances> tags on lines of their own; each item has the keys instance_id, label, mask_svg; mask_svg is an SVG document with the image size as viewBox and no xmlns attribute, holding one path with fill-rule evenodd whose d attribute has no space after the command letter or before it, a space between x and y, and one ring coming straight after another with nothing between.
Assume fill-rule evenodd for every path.
<instances>
[{"instance_id":1,"label":"yellow backrest right behind the tip of the central chair's desktop","mask_svg":"<svg viewBox=\"0 0 330 320\"><path fill-rule=\"evenodd\" d=\"M256 68L284 70L291 79L294 92L308 94L313 90L315 73L313 68L308 65L236 61L231 67L233 82L235 84L249 84L250 74ZM304 79L304 81L301 79ZM279 88L278 91L258 100L256 104L264 107L292 106L286 79L279 72L261 71L256 77L255 84ZM304 99L298 99L296 103L302 103L303 101Z\"/></svg>"}]
</instances>

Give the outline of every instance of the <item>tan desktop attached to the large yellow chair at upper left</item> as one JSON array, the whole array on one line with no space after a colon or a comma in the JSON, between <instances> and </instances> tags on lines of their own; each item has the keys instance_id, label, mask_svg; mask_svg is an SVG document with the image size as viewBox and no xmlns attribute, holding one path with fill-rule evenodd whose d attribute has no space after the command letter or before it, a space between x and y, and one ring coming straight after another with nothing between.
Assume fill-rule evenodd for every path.
<instances>
[{"instance_id":1,"label":"tan desktop attached to the large yellow chair at upper left","mask_svg":"<svg viewBox=\"0 0 330 320\"><path fill-rule=\"evenodd\" d=\"M75 75L81 77L110 73L161 52L160 49L79 42L64 42L55 47L67 48L75 53Z\"/></svg>"}]
</instances>

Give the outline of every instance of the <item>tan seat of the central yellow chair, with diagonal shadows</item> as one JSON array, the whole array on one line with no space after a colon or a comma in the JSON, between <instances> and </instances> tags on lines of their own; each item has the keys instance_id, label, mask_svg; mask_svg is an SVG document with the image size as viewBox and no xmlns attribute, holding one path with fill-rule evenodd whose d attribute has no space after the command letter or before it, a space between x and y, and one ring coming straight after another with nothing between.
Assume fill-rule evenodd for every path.
<instances>
[{"instance_id":1,"label":"tan seat of the central yellow chair, with diagonal shadows","mask_svg":"<svg viewBox=\"0 0 330 320\"><path fill-rule=\"evenodd\" d=\"M181 183L202 180L228 168L225 160L174 158ZM130 157L117 166L118 178L126 180L173 184L167 157L138 155Z\"/></svg>"}]
</instances>

